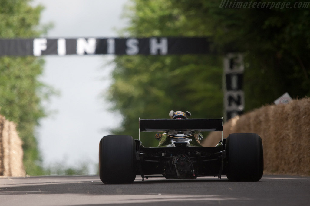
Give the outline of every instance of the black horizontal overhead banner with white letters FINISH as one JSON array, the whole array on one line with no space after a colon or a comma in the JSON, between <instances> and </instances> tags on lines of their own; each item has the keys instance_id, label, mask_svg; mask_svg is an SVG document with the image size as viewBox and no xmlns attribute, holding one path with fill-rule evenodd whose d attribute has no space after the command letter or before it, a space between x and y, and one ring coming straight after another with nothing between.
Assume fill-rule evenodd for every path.
<instances>
[{"instance_id":1,"label":"black horizontal overhead banner with white letters FINISH","mask_svg":"<svg viewBox=\"0 0 310 206\"><path fill-rule=\"evenodd\" d=\"M209 38L0 39L0 56L210 54Z\"/></svg>"}]
</instances>

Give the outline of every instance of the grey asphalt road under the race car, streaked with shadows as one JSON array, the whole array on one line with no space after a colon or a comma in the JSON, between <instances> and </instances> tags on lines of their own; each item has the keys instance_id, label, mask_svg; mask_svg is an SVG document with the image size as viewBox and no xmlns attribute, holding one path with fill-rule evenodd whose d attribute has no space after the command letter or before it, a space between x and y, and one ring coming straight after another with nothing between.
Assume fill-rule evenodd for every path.
<instances>
[{"instance_id":1,"label":"grey asphalt road under the race car, streaked with shadows","mask_svg":"<svg viewBox=\"0 0 310 206\"><path fill-rule=\"evenodd\" d=\"M259 182L214 177L103 184L99 176L0 178L0 205L310 205L310 177L264 175Z\"/></svg>"}]
</instances>

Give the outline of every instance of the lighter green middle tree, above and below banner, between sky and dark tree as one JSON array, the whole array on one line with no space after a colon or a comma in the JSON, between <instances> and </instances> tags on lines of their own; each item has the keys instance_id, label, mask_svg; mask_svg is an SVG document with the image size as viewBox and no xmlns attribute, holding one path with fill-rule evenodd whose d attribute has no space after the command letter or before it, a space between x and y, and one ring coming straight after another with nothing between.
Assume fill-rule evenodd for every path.
<instances>
[{"instance_id":1,"label":"lighter green middle tree, above and below banner, between sky and dark tree","mask_svg":"<svg viewBox=\"0 0 310 206\"><path fill-rule=\"evenodd\" d=\"M127 17L130 25L123 32L130 36L210 35L203 29L198 34L195 26L167 0L137 0ZM221 57L138 55L116 57L114 62L114 82L108 97L112 109L123 116L122 125L112 131L114 134L138 138L139 117L169 118L170 110L190 111L194 118L222 116ZM156 142L155 138L152 140Z\"/></svg>"}]
</instances>

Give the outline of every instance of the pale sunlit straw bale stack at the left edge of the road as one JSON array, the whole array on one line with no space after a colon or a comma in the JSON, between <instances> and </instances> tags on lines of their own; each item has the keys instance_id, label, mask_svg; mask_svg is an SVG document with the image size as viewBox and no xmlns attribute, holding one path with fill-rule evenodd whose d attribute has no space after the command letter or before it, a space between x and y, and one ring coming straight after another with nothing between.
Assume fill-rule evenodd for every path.
<instances>
[{"instance_id":1,"label":"pale sunlit straw bale stack at the left edge of the road","mask_svg":"<svg viewBox=\"0 0 310 206\"><path fill-rule=\"evenodd\" d=\"M22 141L13 122L0 115L0 176L23 177Z\"/></svg>"}]
</instances>

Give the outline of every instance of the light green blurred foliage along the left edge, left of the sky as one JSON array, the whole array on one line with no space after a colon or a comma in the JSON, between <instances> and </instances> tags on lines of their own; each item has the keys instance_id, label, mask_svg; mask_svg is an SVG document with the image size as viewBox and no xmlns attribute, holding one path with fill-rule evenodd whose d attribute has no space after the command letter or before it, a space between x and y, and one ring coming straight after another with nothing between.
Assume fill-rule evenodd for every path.
<instances>
[{"instance_id":1,"label":"light green blurred foliage along the left edge, left of the sky","mask_svg":"<svg viewBox=\"0 0 310 206\"><path fill-rule=\"evenodd\" d=\"M0 38L39 36L41 6L28 0L0 0ZM24 149L27 174L42 174L41 157L34 134L38 120L45 116L41 100L53 91L38 81L44 61L37 57L0 58L0 113L17 124Z\"/></svg>"}]
</instances>

